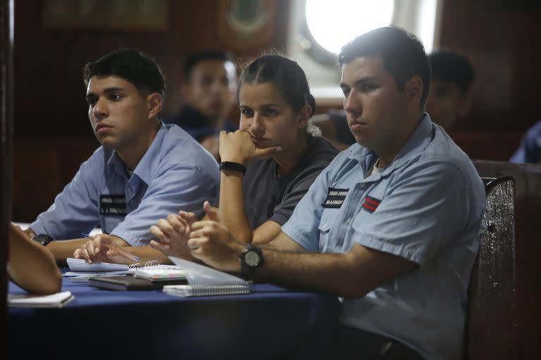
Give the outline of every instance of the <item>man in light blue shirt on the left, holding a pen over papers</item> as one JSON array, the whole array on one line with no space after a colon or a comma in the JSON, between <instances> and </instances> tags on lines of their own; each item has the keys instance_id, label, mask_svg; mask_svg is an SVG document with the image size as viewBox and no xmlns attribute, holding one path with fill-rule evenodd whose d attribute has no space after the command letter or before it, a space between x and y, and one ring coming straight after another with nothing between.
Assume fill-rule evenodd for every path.
<instances>
[{"instance_id":1,"label":"man in light blue shirt on the left, holding a pen over papers","mask_svg":"<svg viewBox=\"0 0 541 360\"><path fill-rule=\"evenodd\" d=\"M161 122L165 82L154 60L114 51L88 63L83 77L101 146L27 233L41 235L37 240L60 261L73 257L87 243L81 233L95 226L104 232L98 242L137 246L142 261L161 259L161 252L141 246L151 238L149 227L170 212L216 200L216 160L180 127ZM66 241L48 243L51 238Z\"/></svg>"}]
</instances>

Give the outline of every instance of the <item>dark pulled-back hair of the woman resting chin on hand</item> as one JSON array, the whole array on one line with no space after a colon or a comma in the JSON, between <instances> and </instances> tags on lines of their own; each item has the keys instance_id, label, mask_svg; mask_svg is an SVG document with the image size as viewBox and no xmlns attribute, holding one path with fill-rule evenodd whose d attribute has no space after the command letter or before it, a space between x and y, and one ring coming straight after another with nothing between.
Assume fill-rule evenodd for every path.
<instances>
[{"instance_id":1,"label":"dark pulled-back hair of the woman resting chin on hand","mask_svg":"<svg viewBox=\"0 0 541 360\"><path fill-rule=\"evenodd\" d=\"M310 94L306 74L293 60L280 55L263 55L252 61L240 75L237 101L242 84L263 83L275 85L295 112L299 113L306 104L312 108L311 115L316 111L316 99Z\"/></svg>"}]
</instances>

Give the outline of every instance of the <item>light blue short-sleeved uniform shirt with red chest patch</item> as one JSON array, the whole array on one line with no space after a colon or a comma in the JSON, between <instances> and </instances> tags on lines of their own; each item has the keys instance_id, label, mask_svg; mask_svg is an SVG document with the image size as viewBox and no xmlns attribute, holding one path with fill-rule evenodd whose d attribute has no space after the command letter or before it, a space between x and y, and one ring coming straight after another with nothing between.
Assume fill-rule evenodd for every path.
<instances>
[{"instance_id":1,"label":"light blue short-sleeved uniform shirt with red chest patch","mask_svg":"<svg viewBox=\"0 0 541 360\"><path fill-rule=\"evenodd\" d=\"M310 252L349 252L359 243L416 262L366 296L344 299L341 322L397 339L427 359L461 359L483 182L428 115L394 161L367 176L375 160L359 144L342 151L282 231Z\"/></svg>"}]
</instances>

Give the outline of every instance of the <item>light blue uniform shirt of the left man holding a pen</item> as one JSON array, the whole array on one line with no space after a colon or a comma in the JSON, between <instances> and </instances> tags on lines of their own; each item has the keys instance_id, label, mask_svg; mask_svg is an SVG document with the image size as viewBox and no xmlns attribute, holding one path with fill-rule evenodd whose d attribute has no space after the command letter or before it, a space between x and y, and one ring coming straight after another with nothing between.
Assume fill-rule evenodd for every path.
<instances>
[{"instance_id":1,"label":"light blue uniform shirt of the left man holding a pen","mask_svg":"<svg viewBox=\"0 0 541 360\"><path fill-rule=\"evenodd\" d=\"M63 240L99 225L132 246L147 245L158 219L200 210L204 200L216 203L219 190L212 155L180 127L162 122L132 174L116 151L100 146L30 228Z\"/></svg>"}]
</instances>

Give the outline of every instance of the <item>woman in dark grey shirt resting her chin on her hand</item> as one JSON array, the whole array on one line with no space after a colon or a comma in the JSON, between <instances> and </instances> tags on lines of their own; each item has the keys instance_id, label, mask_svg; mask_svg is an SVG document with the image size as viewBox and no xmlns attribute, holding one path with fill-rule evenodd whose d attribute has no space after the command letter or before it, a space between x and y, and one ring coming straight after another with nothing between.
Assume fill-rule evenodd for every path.
<instances>
[{"instance_id":1,"label":"woman in dark grey shirt resting her chin on her hand","mask_svg":"<svg viewBox=\"0 0 541 360\"><path fill-rule=\"evenodd\" d=\"M240 130L220 133L219 212L235 238L266 243L338 150L313 135L309 118L316 101L304 71L288 58L266 55L251 62L240 76L237 101ZM194 220L171 214L158 221L151 232L160 242L151 245L188 257L180 238Z\"/></svg>"}]
</instances>

